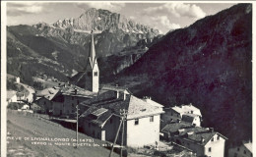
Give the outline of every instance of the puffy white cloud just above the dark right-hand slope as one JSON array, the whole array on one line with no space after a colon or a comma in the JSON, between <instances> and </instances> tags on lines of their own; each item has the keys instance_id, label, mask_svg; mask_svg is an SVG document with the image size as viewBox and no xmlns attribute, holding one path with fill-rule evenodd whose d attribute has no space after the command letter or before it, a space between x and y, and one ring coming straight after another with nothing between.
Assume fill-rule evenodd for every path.
<instances>
[{"instance_id":1,"label":"puffy white cloud just above the dark right-hand slope","mask_svg":"<svg viewBox=\"0 0 256 157\"><path fill-rule=\"evenodd\" d=\"M175 18L188 17L192 19L201 19L206 13L195 4L184 3L165 3L158 7L149 7L144 9L145 15L170 15Z\"/></svg>"}]
</instances>

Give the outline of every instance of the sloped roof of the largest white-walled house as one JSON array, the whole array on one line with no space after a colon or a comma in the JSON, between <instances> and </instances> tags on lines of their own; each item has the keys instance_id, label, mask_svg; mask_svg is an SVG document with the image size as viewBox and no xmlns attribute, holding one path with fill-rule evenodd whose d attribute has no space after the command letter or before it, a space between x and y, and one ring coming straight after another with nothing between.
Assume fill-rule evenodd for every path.
<instances>
[{"instance_id":1,"label":"sloped roof of the largest white-walled house","mask_svg":"<svg viewBox=\"0 0 256 157\"><path fill-rule=\"evenodd\" d=\"M100 120L100 122L106 121L111 115L120 116L120 110L123 109L127 111L128 120L163 113L161 105L158 106L155 103L153 105L130 94L126 94L125 99L123 95L116 98L116 93L111 90L93 99L86 100L80 105L90 106L90 108L81 115L81 118L87 118L99 110L104 111L104 113L99 115L96 119ZM107 112L105 110L107 110Z\"/></svg>"}]
</instances>

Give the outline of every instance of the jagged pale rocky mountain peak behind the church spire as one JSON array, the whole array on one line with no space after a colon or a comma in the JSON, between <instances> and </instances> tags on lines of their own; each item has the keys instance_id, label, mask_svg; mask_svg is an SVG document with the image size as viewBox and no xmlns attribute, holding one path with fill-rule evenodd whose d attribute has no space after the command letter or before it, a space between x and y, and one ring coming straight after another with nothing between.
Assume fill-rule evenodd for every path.
<instances>
[{"instance_id":1,"label":"jagged pale rocky mountain peak behind the church spire","mask_svg":"<svg viewBox=\"0 0 256 157\"><path fill-rule=\"evenodd\" d=\"M76 19L59 20L53 26L64 28L72 26L74 29L87 31L92 30L92 28L99 31L108 29L111 32L121 29L124 32L159 34L158 29L138 24L118 13L96 8L87 10Z\"/></svg>"}]
</instances>

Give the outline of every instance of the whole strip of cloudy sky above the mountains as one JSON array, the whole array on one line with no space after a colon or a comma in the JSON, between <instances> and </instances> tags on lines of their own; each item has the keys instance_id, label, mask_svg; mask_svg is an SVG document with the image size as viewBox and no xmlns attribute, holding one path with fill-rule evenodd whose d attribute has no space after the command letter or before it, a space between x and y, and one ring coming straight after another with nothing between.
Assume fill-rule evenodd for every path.
<instances>
[{"instance_id":1,"label":"whole strip of cloudy sky above the mountains","mask_svg":"<svg viewBox=\"0 0 256 157\"><path fill-rule=\"evenodd\" d=\"M119 13L142 25L158 28L160 33L190 26L235 3L180 2L7 2L7 26L34 25L78 18L90 8Z\"/></svg>"}]
</instances>

